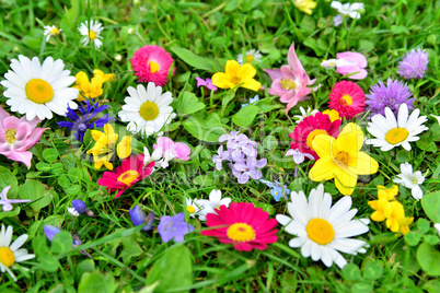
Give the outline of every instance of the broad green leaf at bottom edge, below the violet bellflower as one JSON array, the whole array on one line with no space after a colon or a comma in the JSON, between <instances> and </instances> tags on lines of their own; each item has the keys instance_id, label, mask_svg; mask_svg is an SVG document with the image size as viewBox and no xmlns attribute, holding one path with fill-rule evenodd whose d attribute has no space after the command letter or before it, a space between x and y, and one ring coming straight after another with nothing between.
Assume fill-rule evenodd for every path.
<instances>
[{"instance_id":1,"label":"broad green leaf at bottom edge, below the violet bellflower","mask_svg":"<svg viewBox=\"0 0 440 293\"><path fill-rule=\"evenodd\" d=\"M193 284L190 253L183 245L174 246L158 259L147 274L147 285L159 281L154 292L176 291ZM184 291L188 292L188 290Z\"/></svg>"}]
</instances>

